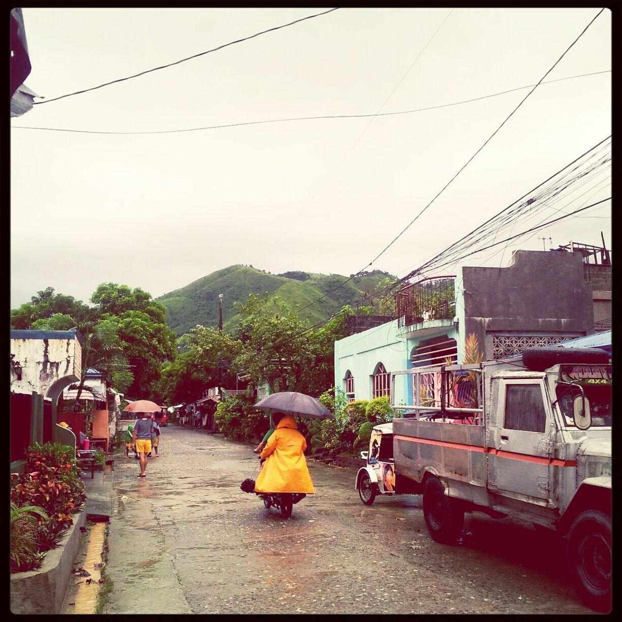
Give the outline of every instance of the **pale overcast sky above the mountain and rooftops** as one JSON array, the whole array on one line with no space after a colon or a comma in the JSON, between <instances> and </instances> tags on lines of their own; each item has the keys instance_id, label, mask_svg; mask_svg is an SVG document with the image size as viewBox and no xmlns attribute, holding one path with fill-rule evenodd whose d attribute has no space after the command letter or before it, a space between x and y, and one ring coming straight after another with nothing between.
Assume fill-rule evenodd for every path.
<instances>
[{"instance_id":1,"label":"pale overcast sky above the mountain and rooftops","mask_svg":"<svg viewBox=\"0 0 622 622\"><path fill-rule=\"evenodd\" d=\"M25 8L26 85L46 102L330 8ZM11 119L11 307L48 286L87 302L102 282L158 297L233 264L405 276L611 134L608 9L444 190L531 89L248 123L536 85L599 11L342 8L35 105ZM558 207L610 197L598 183ZM463 264L601 231L610 248L610 215Z\"/></svg>"}]
</instances>

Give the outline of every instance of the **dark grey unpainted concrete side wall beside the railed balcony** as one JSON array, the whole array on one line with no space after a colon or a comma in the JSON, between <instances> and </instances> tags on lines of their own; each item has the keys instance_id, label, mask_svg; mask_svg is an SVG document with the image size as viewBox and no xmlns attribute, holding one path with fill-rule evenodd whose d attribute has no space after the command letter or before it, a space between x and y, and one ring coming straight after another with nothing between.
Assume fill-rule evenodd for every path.
<instances>
[{"instance_id":1,"label":"dark grey unpainted concrete side wall beside the railed balcony","mask_svg":"<svg viewBox=\"0 0 622 622\"><path fill-rule=\"evenodd\" d=\"M476 333L493 358L493 335L559 335L593 332L592 287L580 253L516 251L508 267L462 267L464 330ZM463 343L463 342L462 342Z\"/></svg>"}]
</instances>

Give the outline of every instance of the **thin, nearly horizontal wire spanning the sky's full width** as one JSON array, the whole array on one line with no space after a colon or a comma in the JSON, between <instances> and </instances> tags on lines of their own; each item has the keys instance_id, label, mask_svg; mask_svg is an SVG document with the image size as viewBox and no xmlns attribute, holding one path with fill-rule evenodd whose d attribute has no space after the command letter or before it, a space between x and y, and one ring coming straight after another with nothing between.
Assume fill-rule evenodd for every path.
<instances>
[{"instance_id":1,"label":"thin, nearly horizontal wire spanning the sky's full width","mask_svg":"<svg viewBox=\"0 0 622 622\"><path fill-rule=\"evenodd\" d=\"M578 75L567 76L565 78L556 78L555 80L547 80L545 82L542 82L542 84L552 84L554 82L560 82L562 80L573 80L574 78L585 78L587 76L600 75L601 73L611 73L611 70L608 69L602 72L580 73ZM404 78L402 78L402 80L403 79ZM426 108L415 108L412 110L397 110L392 113L323 114L323 115L309 116L309 117L288 117L288 118L282 118L282 119L263 119L261 121L242 121L241 123L225 123L223 125L210 125L210 126L204 126L202 128L162 129L162 130L146 131L146 132L105 132L105 131L90 130L90 129L35 128L33 126L24 126L24 125L12 126L12 128L14 129L39 129L39 130L45 130L49 132L73 132L75 134L111 134L113 136L140 136L142 134L181 134L183 132L201 132L201 131L206 131L210 129L240 128L240 127L248 126L248 125L262 125L262 124L268 124L268 123L289 123L290 121L319 121L322 119L366 119L366 118L376 118L376 117L383 117L383 116L396 116L398 114L414 114L414 113L426 112L428 110L449 108L450 106L461 106L462 104L469 104L469 103L472 103L473 101L487 100L491 97L498 97L499 95L506 95L506 93L514 93L514 91L522 91L526 88L531 88L532 86L534 85L530 84L526 86L518 86L517 88L511 88L507 91L499 91L499 93L491 93L490 95L482 95L481 97L474 97L474 98L471 98L470 100L453 101L452 103L448 103L448 104L439 104L437 106L427 106ZM53 101L53 100L49 100L49 101ZM40 101L37 103L44 104L47 102ZM383 108L383 106L381 106L381 108Z\"/></svg>"}]
</instances>

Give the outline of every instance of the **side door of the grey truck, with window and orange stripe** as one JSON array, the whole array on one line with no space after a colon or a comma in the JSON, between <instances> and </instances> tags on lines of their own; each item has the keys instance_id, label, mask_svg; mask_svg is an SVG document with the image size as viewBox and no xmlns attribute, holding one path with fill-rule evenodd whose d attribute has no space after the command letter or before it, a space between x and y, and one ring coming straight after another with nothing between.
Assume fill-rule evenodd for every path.
<instances>
[{"instance_id":1,"label":"side door of the grey truck, with window and orange stripe","mask_svg":"<svg viewBox=\"0 0 622 622\"><path fill-rule=\"evenodd\" d=\"M548 501L552 429L544 381L495 381L499 383L498 425L490 430L489 486L516 498Z\"/></svg>"}]
</instances>

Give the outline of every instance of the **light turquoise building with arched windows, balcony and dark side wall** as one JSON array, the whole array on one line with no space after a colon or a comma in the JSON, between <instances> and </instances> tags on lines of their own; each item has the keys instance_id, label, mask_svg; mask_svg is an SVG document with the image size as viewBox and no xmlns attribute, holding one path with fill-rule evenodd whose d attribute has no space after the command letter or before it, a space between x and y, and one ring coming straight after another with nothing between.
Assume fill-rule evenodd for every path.
<instances>
[{"instance_id":1,"label":"light turquoise building with arched windows, balcony and dark side wall","mask_svg":"<svg viewBox=\"0 0 622 622\"><path fill-rule=\"evenodd\" d=\"M335 342L335 386L350 401L390 396L393 371L465 362L469 335L483 360L590 335L596 309L611 317L596 306L611 266L585 266L580 252L516 251L507 267L462 266L408 284L396 294L396 319ZM406 376L395 383L394 403L411 404Z\"/></svg>"}]
</instances>

